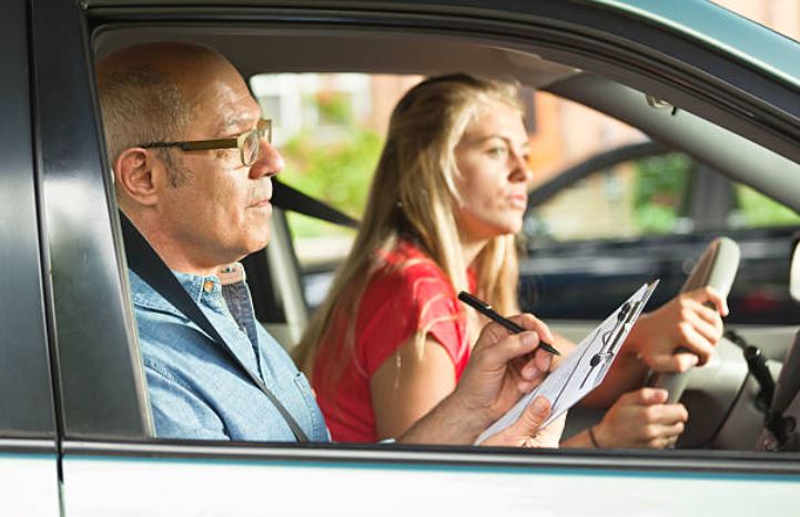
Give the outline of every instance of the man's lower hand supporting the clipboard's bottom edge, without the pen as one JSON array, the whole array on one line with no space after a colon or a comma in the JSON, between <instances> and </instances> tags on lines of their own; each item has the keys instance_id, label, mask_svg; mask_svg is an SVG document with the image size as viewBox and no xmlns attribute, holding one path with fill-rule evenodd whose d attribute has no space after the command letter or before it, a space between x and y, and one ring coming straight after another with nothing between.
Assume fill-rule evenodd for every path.
<instances>
[{"instance_id":1,"label":"man's lower hand supporting the clipboard's bottom edge, without the pen","mask_svg":"<svg viewBox=\"0 0 800 517\"><path fill-rule=\"evenodd\" d=\"M558 448L558 442L561 439L567 414L564 413L553 420L550 425L541 429L541 424L544 424L548 416L550 416L550 402L543 396L538 396L534 398L515 424L506 427L496 435L489 436L480 445Z\"/></svg>"}]
</instances>

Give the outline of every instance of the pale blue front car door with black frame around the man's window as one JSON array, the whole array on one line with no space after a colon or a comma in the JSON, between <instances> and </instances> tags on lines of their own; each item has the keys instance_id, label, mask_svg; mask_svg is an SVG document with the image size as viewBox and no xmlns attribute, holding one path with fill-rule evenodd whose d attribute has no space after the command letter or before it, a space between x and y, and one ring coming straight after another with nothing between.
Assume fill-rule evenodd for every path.
<instances>
[{"instance_id":1,"label":"pale blue front car door with black frame around the man's window","mask_svg":"<svg viewBox=\"0 0 800 517\"><path fill-rule=\"evenodd\" d=\"M112 185L101 152L91 81L94 30L120 31L119 43L183 34L224 47L231 34L327 37L338 31L335 36L346 41L367 29L383 33L389 24L391 32L412 37L482 34L483 44L549 49L554 55L561 55L563 50L554 49L569 41L591 43L608 55L585 64L612 67L619 54L607 45L639 23L601 2L590 9L586 2L440 2L436 8L429 2L326 2L324 8L254 2L241 9L207 1L156 3L30 4L38 114L33 134L59 379L64 515L675 515L711 505L715 511L749 515L756 508L780 513L797 504L796 454L301 446L153 437ZM578 30L579 37L567 41L568 31L557 30L564 26L591 29ZM602 41L593 40L598 31L608 31ZM662 57L672 49L674 36L656 36L637 44ZM271 47L275 59L279 48ZM713 52L692 50L717 59ZM568 57L577 59L580 52L574 52ZM725 68L742 69L722 61ZM781 90L769 100L783 105L783 95L796 100L798 93ZM709 111L725 113L717 105ZM786 142L772 142L767 129L760 131L757 135L786 151ZM797 135L787 138L793 145Z\"/></svg>"}]
</instances>

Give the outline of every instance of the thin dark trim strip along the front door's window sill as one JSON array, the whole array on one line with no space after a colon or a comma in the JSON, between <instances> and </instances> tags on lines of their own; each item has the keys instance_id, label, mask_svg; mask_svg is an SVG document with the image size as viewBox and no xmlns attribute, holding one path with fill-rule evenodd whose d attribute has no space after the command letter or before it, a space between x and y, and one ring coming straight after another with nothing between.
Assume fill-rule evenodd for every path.
<instances>
[{"instance_id":1,"label":"thin dark trim strip along the front door's window sill","mask_svg":"<svg viewBox=\"0 0 800 517\"><path fill-rule=\"evenodd\" d=\"M64 455L120 456L153 459L264 460L282 463L362 463L365 468L377 464L439 467L547 467L565 469L612 469L681 472L708 475L789 475L800 480L800 454L710 450L570 450L538 449L528 455L513 449L475 449L464 447L411 447L404 445L252 445L220 444L131 444L68 442Z\"/></svg>"}]
</instances>

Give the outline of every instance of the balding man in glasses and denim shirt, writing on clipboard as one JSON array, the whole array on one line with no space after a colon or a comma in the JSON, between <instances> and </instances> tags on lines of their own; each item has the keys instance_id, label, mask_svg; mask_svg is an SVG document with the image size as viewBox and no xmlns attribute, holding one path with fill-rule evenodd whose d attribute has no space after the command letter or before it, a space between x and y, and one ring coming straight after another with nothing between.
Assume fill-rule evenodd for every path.
<instances>
[{"instance_id":1,"label":"balding man in glasses and denim shirt, writing on clipboard","mask_svg":"<svg viewBox=\"0 0 800 517\"><path fill-rule=\"evenodd\" d=\"M239 362L275 394L311 440L328 439L305 377L255 321L236 261L270 239L271 178L283 160L239 72L210 49L132 47L102 59L98 85L121 210L172 270ZM292 440L276 405L222 348L130 272L148 388L160 437ZM488 325L456 391L399 437L470 444L549 368L536 351L547 327ZM535 352L536 351L536 352ZM533 353L521 368L515 357ZM538 432L549 403L537 399L496 445L555 445Z\"/></svg>"}]
</instances>

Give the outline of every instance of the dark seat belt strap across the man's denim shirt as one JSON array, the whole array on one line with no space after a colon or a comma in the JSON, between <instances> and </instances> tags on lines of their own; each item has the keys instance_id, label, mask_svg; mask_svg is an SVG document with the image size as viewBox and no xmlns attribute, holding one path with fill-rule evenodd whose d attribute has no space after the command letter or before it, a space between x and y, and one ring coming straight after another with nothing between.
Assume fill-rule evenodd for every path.
<instances>
[{"instance_id":1,"label":"dark seat belt strap across the man's denim shirt","mask_svg":"<svg viewBox=\"0 0 800 517\"><path fill-rule=\"evenodd\" d=\"M142 236L142 234L133 226L133 223L120 212L120 223L122 226L122 237L125 244L125 257L128 258L128 267L142 278L150 287L163 296L168 302L174 305L189 320L194 322L200 328L216 341L227 353L234 363L247 374L253 383L259 386L266 398L275 406L283 419L292 429L292 434L297 442L307 443L308 437L305 435L300 424L288 413L288 409L281 403L274 393L266 387L264 382L250 371L236 357L236 354L227 346L225 339L214 328L209 318L200 310L200 306L192 300L186 290L183 288L175 275L170 271L164 261L155 253L155 250Z\"/></svg>"}]
</instances>

